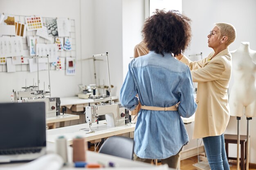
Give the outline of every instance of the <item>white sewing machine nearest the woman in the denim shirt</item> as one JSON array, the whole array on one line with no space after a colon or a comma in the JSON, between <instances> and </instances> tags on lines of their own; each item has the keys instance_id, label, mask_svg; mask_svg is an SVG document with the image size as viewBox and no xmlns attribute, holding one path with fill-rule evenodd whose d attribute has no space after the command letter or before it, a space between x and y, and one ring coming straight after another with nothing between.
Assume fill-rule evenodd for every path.
<instances>
[{"instance_id":1,"label":"white sewing machine nearest the woman in the denim shirt","mask_svg":"<svg viewBox=\"0 0 256 170\"><path fill-rule=\"evenodd\" d=\"M85 107L86 123L91 126L100 115L106 115L107 126L115 127L125 125L125 108L121 104L109 103Z\"/></svg>"}]
</instances>

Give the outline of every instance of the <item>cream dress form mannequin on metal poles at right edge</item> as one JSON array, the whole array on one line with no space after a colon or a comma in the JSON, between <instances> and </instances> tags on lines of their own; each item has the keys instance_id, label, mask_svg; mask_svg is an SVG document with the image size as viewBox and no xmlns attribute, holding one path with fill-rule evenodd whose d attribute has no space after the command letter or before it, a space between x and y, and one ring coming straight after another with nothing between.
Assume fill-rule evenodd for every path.
<instances>
[{"instance_id":1,"label":"cream dress form mannequin on metal poles at right edge","mask_svg":"<svg viewBox=\"0 0 256 170\"><path fill-rule=\"evenodd\" d=\"M240 117L247 117L247 161L249 169L249 120L256 117L256 51L249 48L249 42L241 42L232 54L234 85L229 97L230 115L238 120L237 167L239 170Z\"/></svg>"}]
</instances>

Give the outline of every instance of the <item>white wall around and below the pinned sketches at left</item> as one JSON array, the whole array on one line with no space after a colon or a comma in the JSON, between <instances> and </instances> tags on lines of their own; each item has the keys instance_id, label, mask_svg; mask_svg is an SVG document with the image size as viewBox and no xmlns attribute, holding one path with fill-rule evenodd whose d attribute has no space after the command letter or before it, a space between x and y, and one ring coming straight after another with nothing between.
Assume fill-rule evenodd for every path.
<instances>
[{"instance_id":1,"label":"white wall around and below the pinned sketches at left","mask_svg":"<svg viewBox=\"0 0 256 170\"><path fill-rule=\"evenodd\" d=\"M13 15L40 15L42 17L65 17L75 20L76 26L76 59L79 60L81 56L80 46L80 1L65 1L63 0L0 0L0 11L6 14ZM89 0L86 3L90 3ZM90 11L87 11L90 12ZM88 15L88 14L87 14ZM66 76L65 71L50 71L51 91L53 97L73 96L78 92L77 84L81 81L80 71L81 66L77 64L76 75ZM36 73L16 72L16 73L0 73L0 102L9 102L11 91L20 91L22 86L25 86L25 79L27 85L33 83L33 78L37 81ZM47 71L40 71L39 73L40 87L43 87L43 82L48 86Z\"/></svg>"}]
</instances>

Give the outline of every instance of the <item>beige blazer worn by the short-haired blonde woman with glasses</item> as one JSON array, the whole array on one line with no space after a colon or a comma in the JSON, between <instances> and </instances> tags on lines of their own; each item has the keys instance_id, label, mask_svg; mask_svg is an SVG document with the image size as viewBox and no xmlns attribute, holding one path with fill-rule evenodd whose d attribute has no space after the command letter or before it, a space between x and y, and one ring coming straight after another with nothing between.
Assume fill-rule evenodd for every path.
<instances>
[{"instance_id":1,"label":"beige blazer worn by the short-haired blonde woman with glasses","mask_svg":"<svg viewBox=\"0 0 256 170\"><path fill-rule=\"evenodd\" d=\"M193 139L222 135L229 122L227 89L231 77L231 53L227 48L211 59L213 55L214 52L197 62L185 56L180 60L189 66L193 82L198 82Z\"/></svg>"}]
</instances>

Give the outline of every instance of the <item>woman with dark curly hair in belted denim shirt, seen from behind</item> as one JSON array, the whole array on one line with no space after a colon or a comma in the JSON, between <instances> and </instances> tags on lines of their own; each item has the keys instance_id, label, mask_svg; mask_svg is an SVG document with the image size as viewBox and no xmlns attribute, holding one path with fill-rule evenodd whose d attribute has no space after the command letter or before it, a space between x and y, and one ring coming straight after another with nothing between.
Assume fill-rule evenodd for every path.
<instances>
[{"instance_id":1,"label":"woman with dark curly hair in belted denim shirt, seen from behind","mask_svg":"<svg viewBox=\"0 0 256 170\"><path fill-rule=\"evenodd\" d=\"M137 161L161 159L177 168L180 151L189 142L181 117L193 115L197 105L189 67L174 55L189 45L190 21L177 11L157 10L144 24L150 52L130 62L120 92L121 104L129 110L141 103L134 134Z\"/></svg>"}]
</instances>

